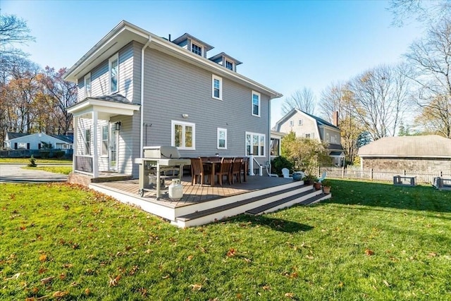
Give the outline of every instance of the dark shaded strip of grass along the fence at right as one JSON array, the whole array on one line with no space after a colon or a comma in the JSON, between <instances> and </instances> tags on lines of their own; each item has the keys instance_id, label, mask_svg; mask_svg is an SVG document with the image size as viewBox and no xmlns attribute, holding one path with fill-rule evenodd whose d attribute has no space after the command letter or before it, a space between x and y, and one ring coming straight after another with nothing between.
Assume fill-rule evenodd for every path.
<instances>
[{"instance_id":1,"label":"dark shaded strip of grass along the fence at right","mask_svg":"<svg viewBox=\"0 0 451 301\"><path fill-rule=\"evenodd\" d=\"M330 180L332 198L324 203L357 204L431 212L451 212L451 192L431 186L402 187L388 183Z\"/></svg>"}]
</instances>

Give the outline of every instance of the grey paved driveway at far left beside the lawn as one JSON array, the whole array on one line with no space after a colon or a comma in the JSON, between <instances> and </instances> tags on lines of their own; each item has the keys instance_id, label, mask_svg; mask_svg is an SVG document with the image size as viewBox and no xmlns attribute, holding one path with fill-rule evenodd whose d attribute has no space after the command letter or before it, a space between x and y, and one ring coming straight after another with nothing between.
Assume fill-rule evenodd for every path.
<instances>
[{"instance_id":1,"label":"grey paved driveway at far left beside the lawn","mask_svg":"<svg viewBox=\"0 0 451 301\"><path fill-rule=\"evenodd\" d=\"M66 182L68 176L21 167L27 164L0 164L0 183L47 183Z\"/></svg>"}]
</instances>

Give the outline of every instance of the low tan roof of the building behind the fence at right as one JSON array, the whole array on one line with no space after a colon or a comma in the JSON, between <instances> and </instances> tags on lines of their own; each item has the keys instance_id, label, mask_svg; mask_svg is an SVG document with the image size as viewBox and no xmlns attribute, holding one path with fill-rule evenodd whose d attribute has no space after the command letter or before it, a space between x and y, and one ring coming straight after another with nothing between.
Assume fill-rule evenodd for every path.
<instances>
[{"instance_id":1,"label":"low tan roof of the building behind the fence at right","mask_svg":"<svg viewBox=\"0 0 451 301\"><path fill-rule=\"evenodd\" d=\"M358 155L451 158L451 139L439 135L383 137L360 147Z\"/></svg>"}]
</instances>

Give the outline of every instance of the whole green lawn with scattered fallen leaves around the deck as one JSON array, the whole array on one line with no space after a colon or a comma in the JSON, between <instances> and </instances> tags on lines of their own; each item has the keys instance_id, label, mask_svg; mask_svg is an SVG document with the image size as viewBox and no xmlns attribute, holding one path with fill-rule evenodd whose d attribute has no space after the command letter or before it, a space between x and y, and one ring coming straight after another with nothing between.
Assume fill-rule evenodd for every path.
<instances>
[{"instance_id":1,"label":"whole green lawn with scattered fallen leaves around the deck","mask_svg":"<svg viewBox=\"0 0 451 301\"><path fill-rule=\"evenodd\" d=\"M328 202L187 229L1 184L0 300L451 300L451 192L331 182Z\"/></svg>"}]
</instances>

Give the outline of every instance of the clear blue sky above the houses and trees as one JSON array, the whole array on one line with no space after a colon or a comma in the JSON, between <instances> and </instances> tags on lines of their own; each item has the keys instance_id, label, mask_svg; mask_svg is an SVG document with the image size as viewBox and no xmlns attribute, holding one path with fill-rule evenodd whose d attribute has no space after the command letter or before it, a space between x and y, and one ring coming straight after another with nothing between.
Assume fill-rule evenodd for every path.
<instances>
[{"instance_id":1,"label":"clear blue sky above the houses and trees","mask_svg":"<svg viewBox=\"0 0 451 301\"><path fill-rule=\"evenodd\" d=\"M238 73L286 96L309 87L319 99L333 82L397 63L421 35L390 26L387 1L24 1L1 0L3 14L27 21L36 42L23 47L40 66L68 67L121 20L162 37L188 32L242 61ZM319 113L317 109L316 113Z\"/></svg>"}]
</instances>

